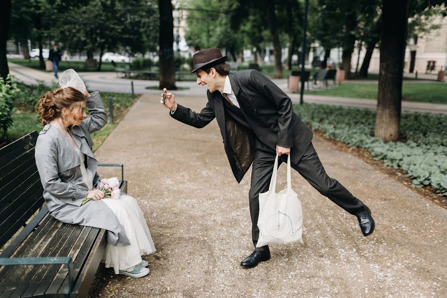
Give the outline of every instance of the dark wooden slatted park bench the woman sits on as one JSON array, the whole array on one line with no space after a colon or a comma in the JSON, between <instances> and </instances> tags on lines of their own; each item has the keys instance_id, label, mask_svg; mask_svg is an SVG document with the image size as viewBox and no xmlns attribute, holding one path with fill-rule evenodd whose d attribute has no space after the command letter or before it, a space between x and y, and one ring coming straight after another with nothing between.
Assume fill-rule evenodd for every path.
<instances>
[{"instance_id":1,"label":"dark wooden slatted park bench the woman sits on","mask_svg":"<svg viewBox=\"0 0 447 298\"><path fill-rule=\"evenodd\" d=\"M34 131L0 149L0 247L7 244L0 253L0 298L86 297L107 233L48 214L34 159L37 137ZM122 164L98 165L120 166L127 192Z\"/></svg>"}]
</instances>

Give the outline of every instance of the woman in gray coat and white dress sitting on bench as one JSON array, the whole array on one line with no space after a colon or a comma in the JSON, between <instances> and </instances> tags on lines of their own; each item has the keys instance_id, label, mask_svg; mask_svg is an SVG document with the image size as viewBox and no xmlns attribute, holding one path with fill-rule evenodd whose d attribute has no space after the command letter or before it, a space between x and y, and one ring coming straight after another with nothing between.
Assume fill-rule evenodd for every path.
<instances>
[{"instance_id":1,"label":"woman in gray coat and white dress sitting on bench","mask_svg":"<svg viewBox=\"0 0 447 298\"><path fill-rule=\"evenodd\" d=\"M91 114L88 118L85 107ZM50 215L63 223L106 229L105 266L113 267L115 274L148 275L148 262L141 256L155 247L137 201L128 195L104 198L97 189L97 161L89 134L107 123L99 93L59 88L46 92L36 110L44 128L35 158ZM91 200L82 204L87 198Z\"/></svg>"}]
</instances>

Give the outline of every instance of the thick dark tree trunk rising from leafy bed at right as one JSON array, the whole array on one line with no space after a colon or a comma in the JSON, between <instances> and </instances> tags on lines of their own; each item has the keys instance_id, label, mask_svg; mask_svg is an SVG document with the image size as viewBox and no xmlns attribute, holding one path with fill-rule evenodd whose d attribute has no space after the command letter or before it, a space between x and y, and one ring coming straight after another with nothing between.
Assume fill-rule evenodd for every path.
<instances>
[{"instance_id":1,"label":"thick dark tree trunk rising from leafy bed at right","mask_svg":"<svg viewBox=\"0 0 447 298\"><path fill-rule=\"evenodd\" d=\"M399 138L408 3L383 0L374 136L385 142Z\"/></svg>"}]
</instances>

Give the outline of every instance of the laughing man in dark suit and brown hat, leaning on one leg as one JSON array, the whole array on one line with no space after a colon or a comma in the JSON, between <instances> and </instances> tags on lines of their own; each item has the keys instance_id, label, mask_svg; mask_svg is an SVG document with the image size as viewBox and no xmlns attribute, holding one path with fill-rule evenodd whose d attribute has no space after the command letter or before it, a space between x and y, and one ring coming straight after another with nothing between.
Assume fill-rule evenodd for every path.
<instances>
[{"instance_id":1,"label":"laughing man in dark suit and brown hat, leaning on one leg","mask_svg":"<svg viewBox=\"0 0 447 298\"><path fill-rule=\"evenodd\" d=\"M172 118L197 128L216 118L237 182L253 164L248 197L255 250L241 262L242 267L252 268L270 259L267 245L256 248L258 197L269 188L276 154L281 156L279 162L287 162L285 155L291 154L292 167L299 174L323 196L357 216L365 236L373 232L371 211L326 174L311 143L312 131L293 112L291 99L275 83L255 70L229 73L217 48L197 52L193 61L191 73L197 73L197 84L208 84L207 105L200 113L193 112L177 104L174 95L164 89L164 106Z\"/></svg>"}]
</instances>

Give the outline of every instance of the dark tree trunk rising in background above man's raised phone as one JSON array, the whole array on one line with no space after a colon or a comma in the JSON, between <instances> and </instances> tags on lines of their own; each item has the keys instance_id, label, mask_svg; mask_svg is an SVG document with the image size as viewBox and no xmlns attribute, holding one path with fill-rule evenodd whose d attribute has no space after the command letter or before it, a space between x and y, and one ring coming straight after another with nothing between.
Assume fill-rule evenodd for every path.
<instances>
[{"instance_id":1,"label":"dark tree trunk rising in background above man's raised phone","mask_svg":"<svg viewBox=\"0 0 447 298\"><path fill-rule=\"evenodd\" d=\"M171 0L158 0L160 26L158 31L159 88L177 89L174 67L174 18Z\"/></svg>"}]
</instances>

